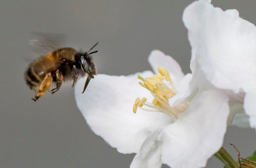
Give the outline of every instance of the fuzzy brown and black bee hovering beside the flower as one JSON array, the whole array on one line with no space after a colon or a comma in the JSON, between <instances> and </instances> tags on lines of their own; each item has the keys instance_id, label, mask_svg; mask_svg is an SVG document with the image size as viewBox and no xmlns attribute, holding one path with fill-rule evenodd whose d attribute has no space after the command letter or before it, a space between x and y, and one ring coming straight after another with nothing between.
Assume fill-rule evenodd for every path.
<instances>
[{"instance_id":1,"label":"fuzzy brown and black bee hovering beside the flower","mask_svg":"<svg viewBox=\"0 0 256 168\"><path fill-rule=\"evenodd\" d=\"M57 48L57 46L40 34L36 35L40 37L37 37L36 40L31 40L31 45L39 46L40 50L41 48L55 50L42 55L28 65L25 72L25 81L28 87L36 92L32 100L37 101L46 91L49 91L52 84L56 85L56 88L51 90L52 94L60 89L63 81L73 80L72 87L74 87L78 77L84 77L87 74L82 92L84 93L90 80L94 78L94 75L97 75L92 54L98 51L90 51L98 42L90 50L83 52L82 50L75 50L70 47ZM49 47L46 47L45 43Z\"/></svg>"}]
</instances>

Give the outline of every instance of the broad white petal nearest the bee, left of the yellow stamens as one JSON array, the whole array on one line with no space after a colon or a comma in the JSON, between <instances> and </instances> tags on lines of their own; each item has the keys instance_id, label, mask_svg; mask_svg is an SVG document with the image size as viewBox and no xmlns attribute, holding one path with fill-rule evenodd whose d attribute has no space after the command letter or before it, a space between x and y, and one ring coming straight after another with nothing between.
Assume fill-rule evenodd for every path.
<instances>
[{"instance_id":1,"label":"broad white petal nearest the bee, left of the yellow stamens","mask_svg":"<svg viewBox=\"0 0 256 168\"><path fill-rule=\"evenodd\" d=\"M140 74L151 76L153 73ZM99 74L82 94L84 82L85 79L78 80L75 87L78 109L92 131L121 153L137 153L149 134L171 123L171 118L164 113L139 108L136 114L132 112L137 97L152 97L138 84L137 74L129 77Z\"/></svg>"}]
</instances>

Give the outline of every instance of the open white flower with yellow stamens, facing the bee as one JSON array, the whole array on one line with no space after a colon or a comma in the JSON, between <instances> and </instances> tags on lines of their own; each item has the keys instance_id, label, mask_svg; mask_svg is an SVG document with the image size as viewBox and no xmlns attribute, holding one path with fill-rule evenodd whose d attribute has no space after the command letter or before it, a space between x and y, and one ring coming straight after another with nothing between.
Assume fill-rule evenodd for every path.
<instances>
[{"instance_id":1,"label":"open white flower with yellow stamens, facing the bee","mask_svg":"<svg viewBox=\"0 0 256 168\"><path fill-rule=\"evenodd\" d=\"M151 77L150 71L129 76L99 74L84 94L84 80L79 80L75 87L79 110L92 131L112 147L121 153L137 153L132 168L156 168L162 163L172 168L204 167L222 146L228 96L217 90L202 90L189 104L171 107L171 97L188 90L191 74L184 76L180 65L158 50L152 51L148 60L155 73L158 66L167 68L158 68L162 76ZM140 83L145 88L138 84L138 74L147 80ZM134 103L141 96L148 100ZM133 104L136 114L132 113Z\"/></svg>"}]
</instances>

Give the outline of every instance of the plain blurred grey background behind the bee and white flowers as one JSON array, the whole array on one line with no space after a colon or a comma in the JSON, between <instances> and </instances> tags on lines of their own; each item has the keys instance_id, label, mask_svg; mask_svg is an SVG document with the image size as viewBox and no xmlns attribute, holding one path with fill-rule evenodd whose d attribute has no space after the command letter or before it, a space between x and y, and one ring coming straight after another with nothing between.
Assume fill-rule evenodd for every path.
<instances>
[{"instance_id":1,"label":"plain blurred grey background behind the bee and white flowers","mask_svg":"<svg viewBox=\"0 0 256 168\"><path fill-rule=\"evenodd\" d=\"M38 102L23 80L21 57L36 58L28 45L31 31L67 34L67 46L87 50L99 41L98 73L128 75L149 70L153 49L173 56L190 72L190 46L181 17L192 1L0 1L0 167L129 167L124 155L92 133L78 111L71 83ZM256 23L254 0L215 0L222 9L236 8ZM256 149L255 131L229 127L224 147L234 143L246 157ZM165 167L165 166L163 166ZM166 166L167 167L167 166ZM222 167L211 158L207 167Z\"/></svg>"}]
</instances>

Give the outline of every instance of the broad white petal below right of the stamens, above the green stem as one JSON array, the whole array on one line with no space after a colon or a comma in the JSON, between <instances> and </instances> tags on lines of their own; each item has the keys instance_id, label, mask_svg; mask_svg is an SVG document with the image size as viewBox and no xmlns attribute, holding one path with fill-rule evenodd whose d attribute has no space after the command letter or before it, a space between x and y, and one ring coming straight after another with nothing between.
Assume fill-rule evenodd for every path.
<instances>
[{"instance_id":1,"label":"broad white petal below right of the stamens, above the green stem","mask_svg":"<svg viewBox=\"0 0 256 168\"><path fill-rule=\"evenodd\" d=\"M204 167L222 146L227 128L228 97L216 90L203 91L160 134L162 163L172 168Z\"/></svg>"}]
</instances>

